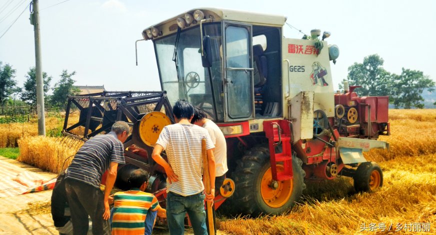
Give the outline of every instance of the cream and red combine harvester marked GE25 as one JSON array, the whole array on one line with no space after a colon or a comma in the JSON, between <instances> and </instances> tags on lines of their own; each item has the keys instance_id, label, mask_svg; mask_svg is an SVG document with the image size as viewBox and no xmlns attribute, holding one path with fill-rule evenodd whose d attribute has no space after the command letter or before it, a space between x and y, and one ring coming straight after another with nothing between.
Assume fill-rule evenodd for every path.
<instances>
[{"instance_id":1,"label":"cream and red combine harvester marked GE25","mask_svg":"<svg viewBox=\"0 0 436 235\"><path fill-rule=\"evenodd\" d=\"M154 45L157 92L102 92L70 96L63 134L82 141L105 133L116 120L132 134L124 143L127 165L151 174L149 188L164 205L165 174L151 151L163 126L173 123L171 105L186 99L204 110L227 141L227 177L215 205L232 196L240 213L277 215L291 208L304 180L352 177L356 191L381 187L383 175L362 152L388 148L388 97L358 97L358 86L333 91L329 36L312 30L306 39L283 37L284 16L201 8L142 31ZM138 40L140 41L140 40ZM136 41L136 42L138 42ZM73 106L78 123L68 126ZM84 128L77 135L77 128ZM232 179L232 180L231 180Z\"/></svg>"}]
</instances>

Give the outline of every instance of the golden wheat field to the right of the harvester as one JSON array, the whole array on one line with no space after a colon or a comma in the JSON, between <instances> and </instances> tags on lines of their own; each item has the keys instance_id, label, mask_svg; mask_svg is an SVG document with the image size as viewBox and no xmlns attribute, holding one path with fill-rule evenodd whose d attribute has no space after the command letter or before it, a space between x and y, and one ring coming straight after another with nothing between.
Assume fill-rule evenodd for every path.
<instances>
[{"instance_id":1,"label":"golden wheat field to the right of the harvester","mask_svg":"<svg viewBox=\"0 0 436 235\"><path fill-rule=\"evenodd\" d=\"M221 218L218 229L238 235L415 234L411 225L429 223L423 234L436 234L436 110L389 110L389 122L391 135L380 140L390 150L365 153L383 170L378 191L357 194L346 177L308 182L291 212Z\"/></svg>"}]
</instances>

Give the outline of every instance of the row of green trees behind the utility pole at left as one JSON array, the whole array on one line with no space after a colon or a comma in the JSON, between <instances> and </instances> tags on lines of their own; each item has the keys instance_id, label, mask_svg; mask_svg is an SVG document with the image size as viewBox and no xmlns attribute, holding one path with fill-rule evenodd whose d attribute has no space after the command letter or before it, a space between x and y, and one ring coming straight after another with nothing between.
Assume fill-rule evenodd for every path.
<instances>
[{"instance_id":1,"label":"row of green trees behind the utility pole at left","mask_svg":"<svg viewBox=\"0 0 436 235\"><path fill-rule=\"evenodd\" d=\"M15 69L8 63L0 61L0 105L36 105L36 70L35 67L30 67L25 75L25 81L22 87L18 86L15 77ZM50 86L52 76L46 72L42 73L44 84L44 105L63 109L68 95L75 95L80 90L74 86L75 80L72 76L75 71L68 72L63 69L59 75L60 79L53 86ZM52 90L52 94L48 95L47 92ZM12 98L13 95L19 95L19 100Z\"/></svg>"}]
</instances>

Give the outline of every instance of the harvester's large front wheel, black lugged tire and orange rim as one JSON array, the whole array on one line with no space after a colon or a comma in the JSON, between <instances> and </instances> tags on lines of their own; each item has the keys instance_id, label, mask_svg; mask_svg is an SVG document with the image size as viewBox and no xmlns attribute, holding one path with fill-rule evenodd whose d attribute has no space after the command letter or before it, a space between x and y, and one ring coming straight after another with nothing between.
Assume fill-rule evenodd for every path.
<instances>
[{"instance_id":1,"label":"harvester's large front wheel, black lugged tire and orange rim","mask_svg":"<svg viewBox=\"0 0 436 235\"><path fill-rule=\"evenodd\" d=\"M234 172L236 183L234 206L240 212L250 215L278 215L291 208L305 189L301 169L302 161L292 156L293 178L286 181L273 181L269 150L254 147L247 151ZM277 172L283 166L277 166Z\"/></svg>"}]
</instances>

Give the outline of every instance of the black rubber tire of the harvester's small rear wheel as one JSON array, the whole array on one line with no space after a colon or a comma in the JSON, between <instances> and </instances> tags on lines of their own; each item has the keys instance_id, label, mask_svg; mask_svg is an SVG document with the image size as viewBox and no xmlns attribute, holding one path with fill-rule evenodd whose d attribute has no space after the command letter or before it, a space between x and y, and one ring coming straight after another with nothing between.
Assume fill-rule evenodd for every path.
<instances>
[{"instance_id":1,"label":"black rubber tire of the harvester's small rear wheel","mask_svg":"<svg viewBox=\"0 0 436 235\"><path fill-rule=\"evenodd\" d=\"M376 189L383 186L383 172L381 171L380 166L375 162L363 162L357 167L353 176L354 189L356 192L372 192L369 186L369 181L370 175L373 171L378 171L380 174L380 185Z\"/></svg>"}]
</instances>

